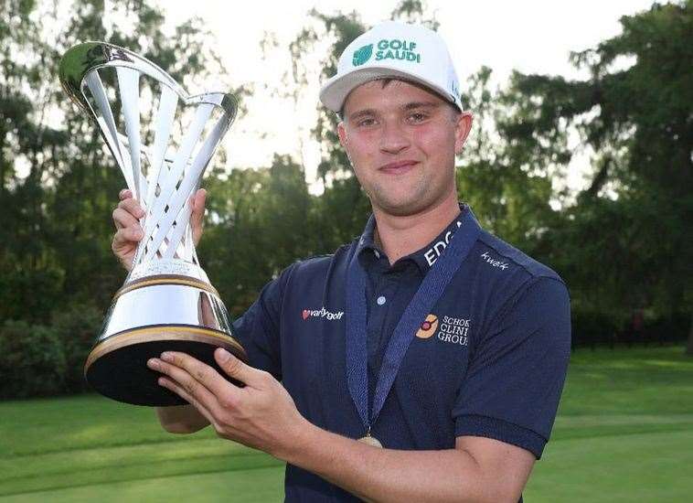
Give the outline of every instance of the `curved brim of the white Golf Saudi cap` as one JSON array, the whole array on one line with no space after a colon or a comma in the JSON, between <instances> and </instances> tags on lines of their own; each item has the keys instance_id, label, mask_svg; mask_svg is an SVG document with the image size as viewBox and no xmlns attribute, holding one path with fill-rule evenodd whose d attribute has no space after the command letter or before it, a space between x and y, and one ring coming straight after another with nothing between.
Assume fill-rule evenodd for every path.
<instances>
[{"instance_id":1,"label":"curved brim of the white Golf Saudi cap","mask_svg":"<svg viewBox=\"0 0 693 503\"><path fill-rule=\"evenodd\" d=\"M456 102L454 97L451 96L448 91L445 91L428 80L424 80L420 77L412 75L411 73L394 70L384 66L370 66L367 68L350 71L346 75L335 75L330 80L327 80L323 88L320 90L320 101L323 102L323 104L331 111L341 112L349 92L354 91L361 84L365 84L371 80L387 79L389 77L417 82L422 86L437 92L442 96L443 99L446 99L448 102L451 102L454 106L462 110L460 103Z\"/></svg>"}]
</instances>

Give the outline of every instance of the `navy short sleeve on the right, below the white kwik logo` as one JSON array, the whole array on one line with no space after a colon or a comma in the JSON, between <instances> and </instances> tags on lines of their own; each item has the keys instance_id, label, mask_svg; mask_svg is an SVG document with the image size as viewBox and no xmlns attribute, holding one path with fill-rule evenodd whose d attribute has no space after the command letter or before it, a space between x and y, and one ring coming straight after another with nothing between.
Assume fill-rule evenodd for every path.
<instances>
[{"instance_id":1,"label":"navy short sleeve on the right, below the white kwik logo","mask_svg":"<svg viewBox=\"0 0 693 503\"><path fill-rule=\"evenodd\" d=\"M482 335L455 407L456 436L484 436L537 459L549 440L570 358L570 297L541 277Z\"/></svg>"}]
</instances>

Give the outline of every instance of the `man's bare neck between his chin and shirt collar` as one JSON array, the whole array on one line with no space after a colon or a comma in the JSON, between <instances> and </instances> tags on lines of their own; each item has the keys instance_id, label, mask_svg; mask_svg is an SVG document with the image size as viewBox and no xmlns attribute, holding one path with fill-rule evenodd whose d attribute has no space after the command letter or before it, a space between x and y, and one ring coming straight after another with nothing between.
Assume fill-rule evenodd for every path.
<instances>
[{"instance_id":1,"label":"man's bare neck between his chin and shirt collar","mask_svg":"<svg viewBox=\"0 0 693 503\"><path fill-rule=\"evenodd\" d=\"M393 264L410 253L421 250L460 214L456 194L442 204L407 216L389 215L373 209L376 219L375 241Z\"/></svg>"}]
</instances>

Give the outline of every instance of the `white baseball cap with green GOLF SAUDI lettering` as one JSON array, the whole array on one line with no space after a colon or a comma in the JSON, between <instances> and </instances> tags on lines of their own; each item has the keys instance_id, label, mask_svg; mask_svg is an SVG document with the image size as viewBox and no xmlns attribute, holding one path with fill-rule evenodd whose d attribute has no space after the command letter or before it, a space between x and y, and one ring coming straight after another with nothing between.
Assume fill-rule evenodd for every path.
<instances>
[{"instance_id":1,"label":"white baseball cap with green GOLF SAUDI lettering","mask_svg":"<svg viewBox=\"0 0 693 503\"><path fill-rule=\"evenodd\" d=\"M341 112L349 92L386 78L420 83L463 110L460 82L442 37L427 27L395 21L370 28L346 46L336 75L320 90L320 101Z\"/></svg>"}]
</instances>

